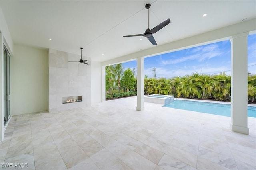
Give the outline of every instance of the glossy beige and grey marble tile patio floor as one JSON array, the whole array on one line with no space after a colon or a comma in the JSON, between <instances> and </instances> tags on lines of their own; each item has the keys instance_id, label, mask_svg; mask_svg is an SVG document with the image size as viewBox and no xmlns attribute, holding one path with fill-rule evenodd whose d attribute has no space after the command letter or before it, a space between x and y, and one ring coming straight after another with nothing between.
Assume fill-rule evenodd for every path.
<instances>
[{"instance_id":1,"label":"glossy beige and grey marble tile patio floor","mask_svg":"<svg viewBox=\"0 0 256 170\"><path fill-rule=\"evenodd\" d=\"M13 116L0 142L0 162L31 170L253 170L256 119L250 135L230 131L230 117L144 103L136 97L86 109Z\"/></svg>"}]
</instances>

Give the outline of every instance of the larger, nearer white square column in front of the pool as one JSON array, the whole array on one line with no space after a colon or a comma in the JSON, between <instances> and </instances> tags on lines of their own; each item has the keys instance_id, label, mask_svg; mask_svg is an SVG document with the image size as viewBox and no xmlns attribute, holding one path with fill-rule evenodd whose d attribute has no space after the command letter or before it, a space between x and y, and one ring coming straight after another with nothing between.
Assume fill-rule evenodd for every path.
<instances>
[{"instance_id":1,"label":"larger, nearer white square column in front of the pool","mask_svg":"<svg viewBox=\"0 0 256 170\"><path fill-rule=\"evenodd\" d=\"M232 36L231 42L231 122L230 129L249 134L247 127L247 36Z\"/></svg>"}]
</instances>

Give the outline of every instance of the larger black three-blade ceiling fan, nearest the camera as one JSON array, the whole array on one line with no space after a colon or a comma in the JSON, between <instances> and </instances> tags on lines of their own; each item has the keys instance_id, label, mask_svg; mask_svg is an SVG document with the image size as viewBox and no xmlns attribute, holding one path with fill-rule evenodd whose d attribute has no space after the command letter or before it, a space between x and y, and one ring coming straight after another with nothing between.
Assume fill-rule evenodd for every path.
<instances>
[{"instance_id":1,"label":"larger black three-blade ceiling fan, nearest the camera","mask_svg":"<svg viewBox=\"0 0 256 170\"><path fill-rule=\"evenodd\" d=\"M146 4L146 8L149 9L150 8L150 4ZM167 20L165 20L164 22L160 23L159 25L157 25L156 27L154 27L153 29L149 29L149 25L148 28L146 29L145 33L143 34L135 34L135 35L126 35L123 37L136 37L136 36L143 36L148 38L148 40L153 44L153 45L157 45L156 40L153 37L153 34L156 33L157 31L159 31L160 29L162 29L163 27L165 27L166 25L168 25L169 23L171 23L170 18L168 18Z\"/></svg>"}]
</instances>

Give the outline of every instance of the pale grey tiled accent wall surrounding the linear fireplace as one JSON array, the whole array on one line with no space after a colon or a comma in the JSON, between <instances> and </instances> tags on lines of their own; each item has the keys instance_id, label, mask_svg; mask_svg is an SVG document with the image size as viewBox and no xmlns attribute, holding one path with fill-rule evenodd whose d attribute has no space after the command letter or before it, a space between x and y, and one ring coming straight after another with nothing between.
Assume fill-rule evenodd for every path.
<instances>
[{"instance_id":1,"label":"pale grey tiled accent wall surrounding the linear fireplace","mask_svg":"<svg viewBox=\"0 0 256 170\"><path fill-rule=\"evenodd\" d=\"M80 55L49 49L49 111L84 108L91 105L91 63L79 62ZM62 97L83 96L82 102L62 104Z\"/></svg>"}]
</instances>

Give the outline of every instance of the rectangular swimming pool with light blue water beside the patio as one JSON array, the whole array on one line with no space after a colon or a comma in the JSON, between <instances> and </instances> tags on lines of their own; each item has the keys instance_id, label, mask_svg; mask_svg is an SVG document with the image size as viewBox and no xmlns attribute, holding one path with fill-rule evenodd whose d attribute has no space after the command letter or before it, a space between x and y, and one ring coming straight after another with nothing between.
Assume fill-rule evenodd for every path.
<instances>
[{"instance_id":1,"label":"rectangular swimming pool with light blue water beside the patio","mask_svg":"<svg viewBox=\"0 0 256 170\"><path fill-rule=\"evenodd\" d=\"M190 100L174 100L172 103L164 105L163 107L197 111L201 113L210 113L214 115L222 115L229 117L231 115L230 104L197 102ZM256 107L248 106L248 117L256 117Z\"/></svg>"}]
</instances>

